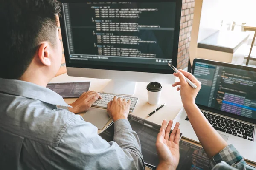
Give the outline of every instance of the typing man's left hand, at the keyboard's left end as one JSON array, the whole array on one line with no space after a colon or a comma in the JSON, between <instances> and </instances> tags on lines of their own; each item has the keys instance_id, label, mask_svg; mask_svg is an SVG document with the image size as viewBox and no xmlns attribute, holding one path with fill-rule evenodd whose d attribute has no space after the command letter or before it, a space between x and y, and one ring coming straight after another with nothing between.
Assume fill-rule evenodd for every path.
<instances>
[{"instance_id":1,"label":"typing man's left hand, at the keyboard's left end","mask_svg":"<svg viewBox=\"0 0 256 170\"><path fill-rule=\"evenodd\" d=\"M84 92L75 102L70 104L73 108L69 108L69 111L75 114L87 111L97 99L102 99L102 97L96 91Z\"/></svg>"}]
</instances>

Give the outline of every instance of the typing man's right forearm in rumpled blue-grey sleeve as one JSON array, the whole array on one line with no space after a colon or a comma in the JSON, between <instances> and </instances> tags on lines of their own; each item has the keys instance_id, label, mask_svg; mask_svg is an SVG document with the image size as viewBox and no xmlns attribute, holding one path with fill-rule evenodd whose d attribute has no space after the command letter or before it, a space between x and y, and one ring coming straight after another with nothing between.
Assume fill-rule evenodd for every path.
<instances>
[{"instance_id":1,"label":"typing man's right forearm in rumpled blue-grey sleeve","mask_svg":"<svg viewBox=\"0 0 256 170\"><path fill-rule=\"evenodd\" d=\"M114 123L113 141L121 147L130 159L133 159L134 166L136 166L137 169L145 168L139 137L137 133L131 129L128 120L119 119Z\"/></svg>"}]
</instances>

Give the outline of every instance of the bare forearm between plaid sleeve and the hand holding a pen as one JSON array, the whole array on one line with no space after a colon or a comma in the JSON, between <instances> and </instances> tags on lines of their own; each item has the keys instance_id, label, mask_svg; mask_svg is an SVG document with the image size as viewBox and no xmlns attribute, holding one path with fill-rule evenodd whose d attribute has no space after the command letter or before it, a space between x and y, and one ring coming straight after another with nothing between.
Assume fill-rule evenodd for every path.
<instances>
[{"instance_id":1,"label":"bare forearm between plaid sleeve and the hand holding a pen","mask_svg":"<svg viewBox=\"0 0 256 170\"><path fill-rule=\"evenodd\" d=\"M204 114L200 111L197 105L195 105L195 103L191 102L189 104L185 104L184 108L195 134L197 135L201 145L204 147L207 156L211 159L227 146L227 142L207 121Z\"/></svg>"}]
</instances>

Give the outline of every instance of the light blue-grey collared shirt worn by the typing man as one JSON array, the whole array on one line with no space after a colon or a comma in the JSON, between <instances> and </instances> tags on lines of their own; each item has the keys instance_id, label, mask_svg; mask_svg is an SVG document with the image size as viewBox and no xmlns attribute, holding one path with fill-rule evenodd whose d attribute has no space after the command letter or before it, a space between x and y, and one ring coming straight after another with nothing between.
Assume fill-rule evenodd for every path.
<instances>
[{"instance_id":1,"label":"light blue-grey collared shirt worn by the typing man","mask_svg":"<svg viewBox=\"0 0 256 170\"><path fill-rule=\"evenodd\" d=\"M1 170L144 169L140 141L127 120L114 123L114 140L54 91L33 83L0 78Z\"/></svg>"}]
</instances>

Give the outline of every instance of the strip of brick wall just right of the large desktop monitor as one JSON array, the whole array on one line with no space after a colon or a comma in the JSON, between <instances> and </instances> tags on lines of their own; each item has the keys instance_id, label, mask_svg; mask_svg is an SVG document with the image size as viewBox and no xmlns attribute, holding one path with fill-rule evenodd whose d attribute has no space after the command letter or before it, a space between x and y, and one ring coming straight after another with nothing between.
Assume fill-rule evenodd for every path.
<instances>
[{"instance_id":1,"label":"strip of brick wall just right of the large desktop monitor","mask_svg":"<svg viewBox=\"0 0 256 170\"><path fill-rule=\"evenodd\" d=\"M180 19L180 38L177 58L177 68L184 69L189 63L189 44L191 40L192 22L195 0L183 0Z\"/></svg>"}]
</instances>

